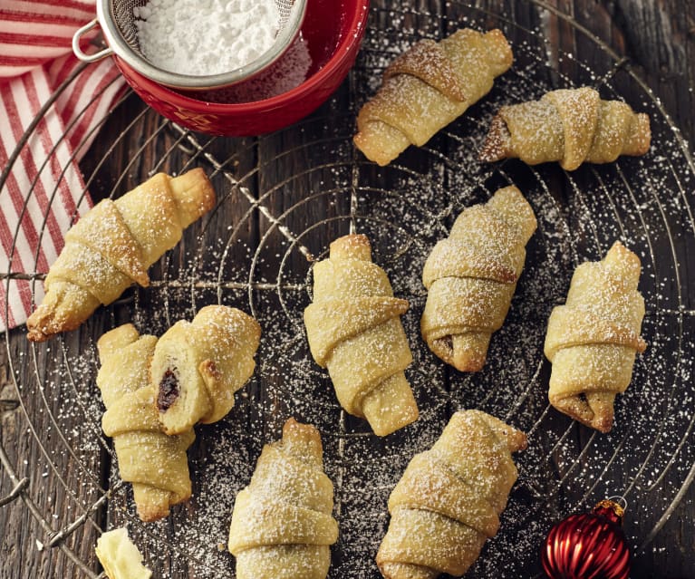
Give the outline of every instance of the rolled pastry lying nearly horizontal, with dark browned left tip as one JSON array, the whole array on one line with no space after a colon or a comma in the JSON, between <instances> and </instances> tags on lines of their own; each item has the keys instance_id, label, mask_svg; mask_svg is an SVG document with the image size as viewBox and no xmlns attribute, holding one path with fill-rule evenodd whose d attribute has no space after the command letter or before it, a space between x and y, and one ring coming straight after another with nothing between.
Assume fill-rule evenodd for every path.
<instances>
[{"instance_id":1,"label":"rolled pastry lying nearly horizontal, with dark browned left tip","mask_svg":"<svg viewBox=\"0 0 695 579\"><path fill-rule=\"evenodd\" d=\"M560 161L610 163L643 155L652 140L649 117L622 101L602 101L584 87L547 92L540 101L502 107L492 121L480 159L521 159L529 165Z\"/></svg>"}]
</instances>

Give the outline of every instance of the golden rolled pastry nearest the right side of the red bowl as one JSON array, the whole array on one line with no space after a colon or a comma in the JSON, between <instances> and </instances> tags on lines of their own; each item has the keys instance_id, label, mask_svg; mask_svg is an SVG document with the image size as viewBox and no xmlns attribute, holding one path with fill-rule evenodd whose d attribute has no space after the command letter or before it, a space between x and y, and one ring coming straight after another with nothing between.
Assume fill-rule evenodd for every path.
<instances>
[{"instance_id":1,"label":"golden rolled pastry nearest the right side of the red bowl","mask_svg":"<svg viewBox=\"0 0 695 579\"><path fill-rule=\"evenodd\" d=\"M388 165L462 115L511 64L512 50L499 30L464 28L439 43L421 40L384 72L379 92L357 117L355 145Z\"/></svg>"}]
</instances>

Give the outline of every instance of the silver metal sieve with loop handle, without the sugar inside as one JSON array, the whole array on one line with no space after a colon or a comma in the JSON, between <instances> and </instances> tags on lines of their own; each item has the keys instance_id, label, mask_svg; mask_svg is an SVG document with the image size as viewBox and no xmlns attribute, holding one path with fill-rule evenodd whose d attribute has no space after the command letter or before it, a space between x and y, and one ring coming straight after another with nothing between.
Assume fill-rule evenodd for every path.
<instances>
[{"instance_id":1,"label":"silver metal sieve with loop handle, without the sugar inside","mask_svg":"<svg viewBox=\"0 0 695 579\"><path fill-rule=\"evenodd\" d=\"M299 34L299 29L304 22L306 14L306 0L275 0L275 5L280 14L280 21L275 43L255 61L246 66L229 72L208 75L179 74L169 72L150 61L140 52L138 43L138 28L135 25L133 8L146 5L147 0L97 0L97 17L89 24L85 24L72 36L72 51L86 63L93 63L102 58L115 54L128 63L136 72L175 89L189 91L205 91L218 89L246 81L262 72L285 53ZM87 54L82 51L80 41L82 36L97 25L101 26L108 48L99 53Z\"/></svg>"}]
</instances>

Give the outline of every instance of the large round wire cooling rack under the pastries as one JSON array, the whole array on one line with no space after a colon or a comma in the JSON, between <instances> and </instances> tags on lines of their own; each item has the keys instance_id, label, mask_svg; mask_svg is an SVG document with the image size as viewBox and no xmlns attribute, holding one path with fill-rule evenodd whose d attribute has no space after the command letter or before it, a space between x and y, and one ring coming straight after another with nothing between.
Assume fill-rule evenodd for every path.
<instances>
[{"instance_id":1,"label":"large round wire cooling rack under the pastries","mask_svg":"<svg viewBox=\"0 0 695 579\"><path fill-rule=\"evenodd\" d=\"M104 528L128 525L155 576L233 576L224 545L234 497L246 486L262 445L276 439L282 422L294 415L321 430L326 471L335 484L341 537L330 576L376 578L373 557L388 524L391 488L412 455L429 448L451 413L463 408L486 410L529 438L529 449L516 457L520 478L501 530L468 577L539 574L537 550L549 526L610 495L628 502L624 528L634 554L649 550L695 477L695 306L686 260L695 251L695 167L679 131L629 63L573 20L541 2L534 5L541 24L563 20L574 45L592 49L592 62L551 50L542 25L529 29L519 15L451 2L446 14L373 8L362 53L341 91L272 137L193 134L132 95L124 97L108 121L110 129L120 130L104 130L108 140L96 142L82 167L92 194L118 196L157 170L201 166L217 188L218 204L155 265L150 288L130 290L82 330L40 345L18 345L17 332L6 333L10 380L21 407L18 431L26 435L19 450L0 446L0 461L15 485L0 506L24 501L37 522L39 550L60 549L66 568L95 577L95 538ZM500 27L513 42L513 68L425 147L411 148L386 168L372 165L352 147L355 112L396 53L461 25ZM653 138L646 156L573 173L513 160L478 163L476 151L501 104L587 84L603 98L623 98L649 113ZM420 339L426 297L420 272L460 210L510 183L534 207L538 230L487 366L461 374L434 358ZM421 417L387 439L374 437L364 422L340 409L306 347L302 312L311 299L312 262L349 231L370 236L375 261L390 275L395 293L411 304L403 321L415 358L408 376ZM603 256L615 239L642 257L649 349L616 402L613 432L601 435L548 407L543 341L548 315L564 301L574 267ZM43 279L39 272L2 277L8 286L17 278L34 285ZM95 343L128 321L143 333L163 333L177 319L217 302L250 311L262 324L256 376L227 419L198 431L189 453L190 504L166 521L144 525L134 514L130 486L119 482L111 441L101 433ZM29 470L20 465L23 460L32 465ZM20 471L31 476L20 478Z\"/></svg>"}]
</instances>

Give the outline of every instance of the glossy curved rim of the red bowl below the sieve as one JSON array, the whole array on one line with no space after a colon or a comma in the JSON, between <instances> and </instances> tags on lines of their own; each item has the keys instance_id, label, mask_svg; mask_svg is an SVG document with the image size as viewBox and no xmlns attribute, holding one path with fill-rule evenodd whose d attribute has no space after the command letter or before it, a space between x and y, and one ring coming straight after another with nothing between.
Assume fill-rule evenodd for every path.
<instances>
[{"instance_id":1,"label":"glossy curved rim of the red bowl below the sieve","mask_svg":"<svg viewBox=\"0 0 695 579\"><path fill-rule=\"evenodd\" d=\"M346 34L343 40L336 46L333 56L328 60L327 63L323 65L323 68L315 72L314 75L306 79L302 84L295 87L291 91L283 92L277 96L271 97L270 99L265 99L263 101L249 101L249 102L209 102L200 101L198 99L193 99L188 96L184 96L180 92L174 92L168 87L159 84L158 82L152 81L151 79L142 76L139 72L134 71L128 63L125 63L122 59L119 60L119 65L126 68L129 74L133 76L140 77L146 82L150 82L157 86L160 92L166 94L167 100L181 107L186 107L191 110L197 110L200 112L252 112L252 111L262 111L267 108L274 107L276 105L284 104L286 101L294 101L297 97L301 97L304 92L309 92L314 89L314 86L323 82L323 79L331 74L335 67L341 63L345 57L345 49L351 48L353 45L362 42L362 35L366 29L367 18L369 16L369 3L370 0L359 0L357 9L354 11L352 17L352 22L350 23L349 30L357 31L359 34ZM118 56L114 55L115 58Z\"/></svg>"}]
</instances>

